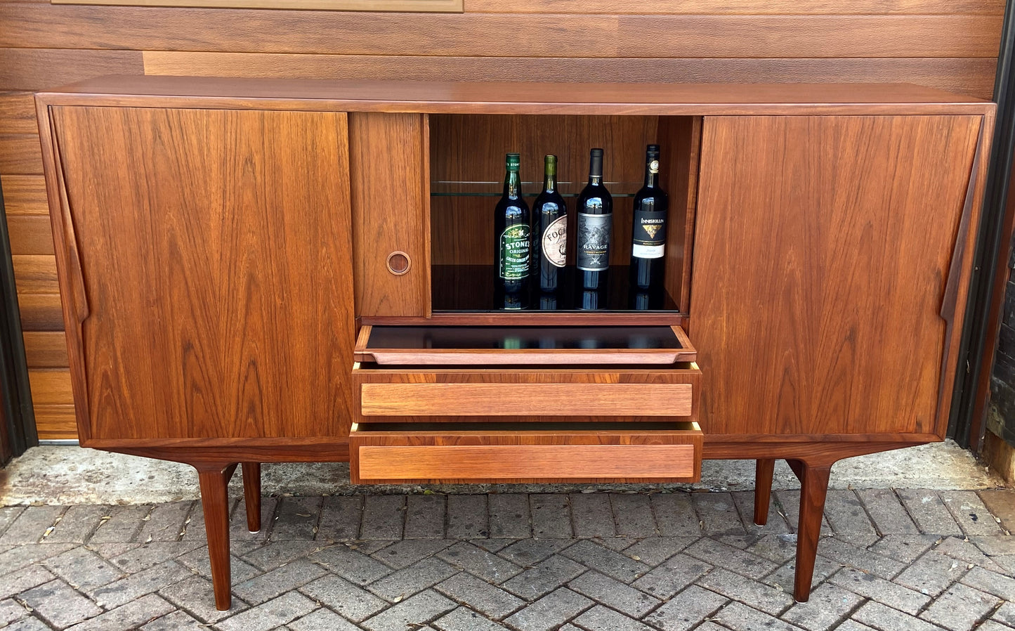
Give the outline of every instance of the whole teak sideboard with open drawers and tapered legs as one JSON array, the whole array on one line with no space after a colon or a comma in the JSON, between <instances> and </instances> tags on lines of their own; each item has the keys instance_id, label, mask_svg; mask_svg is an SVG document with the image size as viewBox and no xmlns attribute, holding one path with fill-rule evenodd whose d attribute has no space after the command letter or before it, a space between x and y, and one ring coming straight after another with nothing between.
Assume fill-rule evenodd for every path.
<instances>
[{"instance_id":1,"label":"whole teak sideboard with open drawers and tapered legs","mask_svg":"<svg viewBox=\"0 0 1015 631\"><path fill-rule=\"evenodd\" d=\"M220 609L241 463L256 530L262 462L596 483L750 458L763 523L786 459L806 601L832 463L945 436L992 103L193 77L36 99L81 445L197 468ZM649 142L671 207L665 301L639 311L622 279ZM559 155L572 195L591 146L615 201L606 308L493 309L504 152L526 182Z\"/></svg>"}]
</instances>

